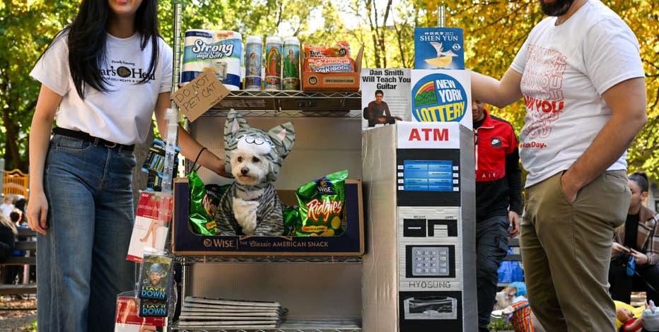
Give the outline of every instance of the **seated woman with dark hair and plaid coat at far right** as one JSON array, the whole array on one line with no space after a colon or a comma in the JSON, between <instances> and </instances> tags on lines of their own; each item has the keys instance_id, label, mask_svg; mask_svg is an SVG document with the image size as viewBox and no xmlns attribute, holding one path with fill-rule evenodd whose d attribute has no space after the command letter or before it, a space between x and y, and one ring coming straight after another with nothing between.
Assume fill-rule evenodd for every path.
<instances>
[{"instance_id":1,"label":"seated woman with dark hair and plaid coat at far right","mask_svg":"<svg viewBox=\"0 0 659 332\"><path fill-rule=\"evenodd\" d=\"M616 228L611 245L609 268L610 292L613 300L629 303L631 290L643 290L647 300L659 304L659 213L643 206L648 198L648 176L645 172L629 175L631 203L624 225ZM634 257L634 275L627 274L628 257Z\"/></svg>"}]
</instances>

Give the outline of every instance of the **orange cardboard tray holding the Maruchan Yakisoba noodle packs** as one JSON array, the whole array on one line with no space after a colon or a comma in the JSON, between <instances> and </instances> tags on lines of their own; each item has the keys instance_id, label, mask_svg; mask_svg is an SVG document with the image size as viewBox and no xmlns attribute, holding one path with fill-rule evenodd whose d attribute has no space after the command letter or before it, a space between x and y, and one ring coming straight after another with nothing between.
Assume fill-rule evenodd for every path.
<instances>
[{"instance_id":1,"label":"orange cardboard tray holding the Maruchan Yakisoba noodle packs","mask_svg":"<svg viewBox=\"0 0 659 332\"><path fill-rule=\"evenodd\" d=\"M358 91L361 76L361 57L364 47L361 45L355 57L355 71L349 73L311 73L302 72L303 91Z\"/></svg>"}]
</instances>

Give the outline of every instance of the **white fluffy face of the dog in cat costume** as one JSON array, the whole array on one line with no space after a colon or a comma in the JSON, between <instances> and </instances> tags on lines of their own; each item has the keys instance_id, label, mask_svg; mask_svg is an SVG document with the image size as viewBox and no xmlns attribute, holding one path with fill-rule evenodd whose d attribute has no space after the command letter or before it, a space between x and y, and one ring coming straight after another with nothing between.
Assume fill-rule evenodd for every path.
<instances>
[{"instance_id":1,"label":"white fluffy face of the dog in cat costume","mask_svg":"<svg viewBox=\"0 0 659 332\"><path fill-rule=\"evenodd\" d=\"M271 170L272 165L265 155L244 149L233 150L231 154L231 174L240 184L253 186L265 182Z\"/></svg>"}]
</instances>

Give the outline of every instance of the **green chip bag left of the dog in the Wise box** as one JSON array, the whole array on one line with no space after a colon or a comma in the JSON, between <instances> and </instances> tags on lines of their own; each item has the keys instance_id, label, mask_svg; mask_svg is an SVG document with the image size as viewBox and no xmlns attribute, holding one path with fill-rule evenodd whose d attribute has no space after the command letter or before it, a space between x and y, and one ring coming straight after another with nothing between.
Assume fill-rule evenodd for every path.
<instances>
[{"instance_id":1,"label":"green chip bag left of the dog in the Wise box","mask_svg":"<svg viewBox=\"0 0 659 332\"><path fill-rule=\"evenodd\" d=\"M220 198L231 184L204 185L202 179L194 171L187 175L187 179L190 187L190 230L198 235L216 235L215 211L220 203Z\"/></svg>"}]
</instances>

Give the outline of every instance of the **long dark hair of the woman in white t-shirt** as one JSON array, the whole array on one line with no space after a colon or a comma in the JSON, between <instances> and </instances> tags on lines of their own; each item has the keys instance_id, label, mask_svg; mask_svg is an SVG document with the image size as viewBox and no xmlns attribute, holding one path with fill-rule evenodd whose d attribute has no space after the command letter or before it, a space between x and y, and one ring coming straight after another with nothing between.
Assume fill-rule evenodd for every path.
<instances>
[{"instance_id":1,"label":"long dark hair of the woman in white t-shirt","mask_svg":"<svg viewBox=\"0 0 659 332\"><path fill-rule=\"evenodd\" d=\"M110 18L110 6L107 0L83 0L78 16L54 38L59 39L68 32L69 69L76 91L85 97L85 83L101 92L109 92L107 80L100 73L100 66L105 63L105 42L107 40L107 22ZM151 42L151 62L146 76L138 84L148 81L158 64L158 1L143 0L135 13L135 30L139 32L141 49ZM54 43L53 40L53 43ZM52 44L51 44L52 46ZM49 46L48 48L50 48ZM47 51L47 49L46 49Z\"/></svg>"}]
</instances>

